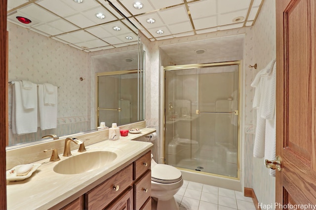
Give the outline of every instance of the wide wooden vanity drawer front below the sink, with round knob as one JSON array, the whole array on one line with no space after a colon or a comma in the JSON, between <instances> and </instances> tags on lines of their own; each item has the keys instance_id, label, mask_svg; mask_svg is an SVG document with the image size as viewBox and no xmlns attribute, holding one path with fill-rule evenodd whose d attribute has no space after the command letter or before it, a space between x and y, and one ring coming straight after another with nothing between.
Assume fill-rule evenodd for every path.
<instances>
[{"instance_id":1,"label":"wide wooden vanity drawer front below the sink, with round knob","mask_svg":"<svg viewBox=\"0 0 316 210\"><path fill-rule=\"evenodd\" d=\"M119 194L132 184L132 164L119 171L109 180L87 193L87 208L89 210L102 210L111 203ZM117 190L114 189L115 186Z\"/></svg>"}]
</instances>

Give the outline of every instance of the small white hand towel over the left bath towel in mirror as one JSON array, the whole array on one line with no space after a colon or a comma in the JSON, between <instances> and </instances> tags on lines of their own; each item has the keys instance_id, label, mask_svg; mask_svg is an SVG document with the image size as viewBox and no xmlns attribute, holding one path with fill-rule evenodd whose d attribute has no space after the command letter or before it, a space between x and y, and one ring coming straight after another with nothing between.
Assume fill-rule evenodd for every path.
<instances>
[{"instance_id":1,"label":"small white hand towel over the left bath towel in mirror","mask_svg":"<svg viewBox=\"0 0 316 210\"><path fill-rule=\"evenodd\" d=\"M24 109L34 109L37 107L37 85L26 80L16 83L19 83L21 86L22 104Z\"/></svg>"}]
</instances>

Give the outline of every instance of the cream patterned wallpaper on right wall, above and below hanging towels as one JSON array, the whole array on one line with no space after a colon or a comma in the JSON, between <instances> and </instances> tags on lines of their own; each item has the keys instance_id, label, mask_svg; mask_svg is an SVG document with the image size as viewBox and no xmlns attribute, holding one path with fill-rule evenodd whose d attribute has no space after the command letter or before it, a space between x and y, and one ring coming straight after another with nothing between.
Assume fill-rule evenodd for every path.
<instances>
[{"instance_id":1,"label":"cream patterned wallpaper on right wall, above and below hanging towels","mask_svg":"<svg viewBox=\"0 0 316 210\"><path fill-rule=\"evenodd\" d=\"M276 2L265 0L255 25L250 28L252 32L252 61L258 64L253 73L257 73L273 59L276 58ZM253 75L255 76L255 74ZM252 91L254 89L252 88ZM252 101L249 101L252 104ZM256 115L253 122L256 122ZM252 138L253 140L253 138ZM251 148L252 149L252 148ZM251 150L252 152L252 150ZM253 159L252 188L255 191L259 203L275 203L276 179L269 175L269 170L264 165L264 158Z\"/></svg>"}]
</instances>

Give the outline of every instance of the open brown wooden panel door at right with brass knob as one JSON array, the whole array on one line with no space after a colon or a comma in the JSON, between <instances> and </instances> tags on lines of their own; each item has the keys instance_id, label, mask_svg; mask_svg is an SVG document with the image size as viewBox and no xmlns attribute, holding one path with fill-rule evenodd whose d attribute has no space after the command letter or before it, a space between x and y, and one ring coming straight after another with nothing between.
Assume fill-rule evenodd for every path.
<instances>
[{"instance_id":1,"label":"open brown wooden panel door at right with brass knob","mask_svg":"<svg viewBox=\"0 0 316 210\"><path fill-rule=\"evenodd\" d=\"M316 209L316 0L276 0L276 209Z\"/></svg>"}]
</instances>

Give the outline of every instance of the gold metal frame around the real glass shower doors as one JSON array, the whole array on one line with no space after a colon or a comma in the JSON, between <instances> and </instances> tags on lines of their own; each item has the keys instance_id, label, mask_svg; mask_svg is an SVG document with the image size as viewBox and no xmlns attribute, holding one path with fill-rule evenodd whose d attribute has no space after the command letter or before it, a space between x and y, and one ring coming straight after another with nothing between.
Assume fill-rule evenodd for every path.
<instances>
[{"instance_id":1,"label":"gold metal frame around the real glass shower doors","mask_svg":"<svg viewBox=\"0 0 316 210\"><path fill-rule=\"evenodd\" d=\"M163 106L163 163L165 164L165 155L166 155L166 145L165 145L165 125L166 125L166 106L165 106L165 77L166 77L166 71L171 71L171 70L184 70L184 69L197 69L197 68L209 68L209 67L219 67L219 66L230 66L230 65L238 65L238 109L236 112L238 113L238 124L237 124L237 177L229 177L229 176L224 176L224 175L219 175L219 174L213 174L213 173L208 173L208 172L201 172L201 171L196 171L196 170L191 170L191 169L186 169L186 168L179 168L176 167L180 170L183 171L189 171L189 172L194 172L194 173L200 173L200 174L206 174L206 175L212 175L216 177L223 177L223 178L228 178L228 179L233 179L233 180L240 180L240 90L241 90L241 64L242 60L235 60L235 61L225 61L225 62L216 62L216 63L199 63L199 64L186 64L186 65L172 65L172 66L163 66L163 95L162 95L162 106Z\"/></svg>"}]
</instances>

